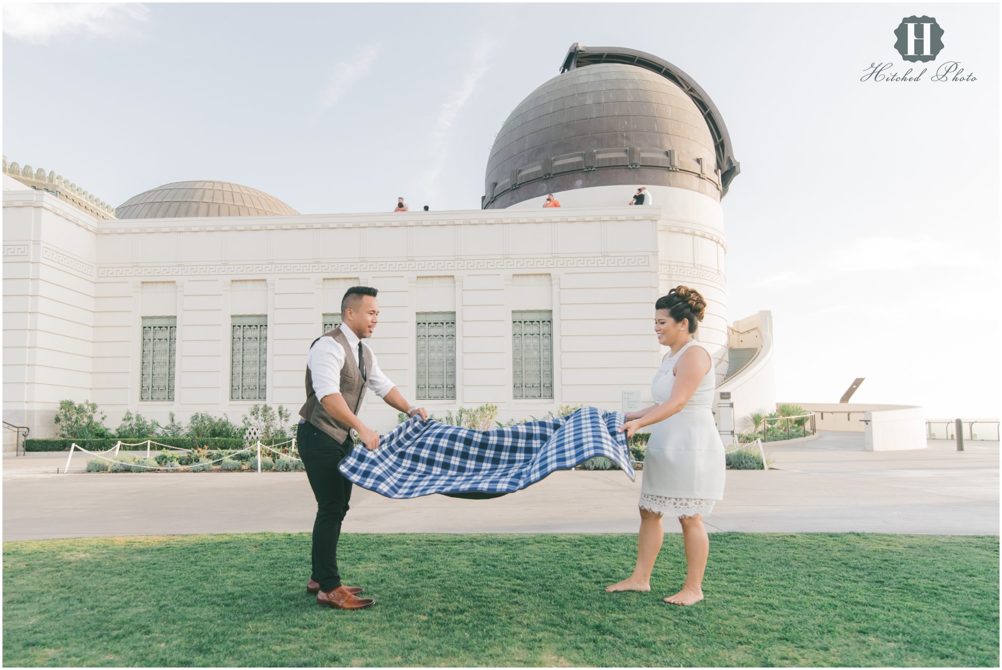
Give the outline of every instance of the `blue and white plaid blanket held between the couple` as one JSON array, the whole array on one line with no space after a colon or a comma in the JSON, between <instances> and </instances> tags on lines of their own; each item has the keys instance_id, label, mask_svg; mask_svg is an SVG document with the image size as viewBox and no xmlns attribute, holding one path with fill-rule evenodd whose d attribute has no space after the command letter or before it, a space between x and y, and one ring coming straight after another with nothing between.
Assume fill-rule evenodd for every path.
<instances>
[{"instance_id":1,"label":"blue and white plaid blanket held between the couple","mask_svg":"<svg viewBox=\"0 0 1002 670\"><path fill-rule=\"evenodd\" d=\"M387 498L433 493L491 498L594 456L612 460L633 480L626 434L618 430L623 421L620 412L590 407L568 417L493 431L412 417L381 436L377 450L357 446L341 462L341 472Z\"/></svg>"}]
</instances>

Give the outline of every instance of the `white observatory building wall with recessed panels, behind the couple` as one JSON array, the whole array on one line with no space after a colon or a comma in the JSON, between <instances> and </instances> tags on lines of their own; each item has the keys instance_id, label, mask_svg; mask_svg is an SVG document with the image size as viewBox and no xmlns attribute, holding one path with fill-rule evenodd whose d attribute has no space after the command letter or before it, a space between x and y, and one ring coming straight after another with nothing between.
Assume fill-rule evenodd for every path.
<instances>
[{"instance_id":1,"label":"white observatory building wall with recessed panels, behind the couple","mask_svg":"<svg viewBox=\"0 0 1002 670\"><path fill-rule=\"evenodd\" d=\"M628 390L652 402L663 354L653 303L669 287L706 296L697 338L717 361L726 351L719 204L671 190L675 208L662 195L642 208L100 222L39 191L6 191L5 418L46 437L56 405L72 398L97 403L111 428L126 410L238 423L254 404L229 400L229 323L239 313L268 314L264 402L295 414L323 314L339 311L356 283L380 289L371 344L412 402L415 313L457 312L457 398L421 403L433 411L492 402L504 421L560 405L619 409ZM553 400L512 397L513 309L553 310ZM139 402L140 323L151 315L177 317L171 402ZM374 397L362 414L378 430L396 423Z\"/></svg>"}]
</instances>

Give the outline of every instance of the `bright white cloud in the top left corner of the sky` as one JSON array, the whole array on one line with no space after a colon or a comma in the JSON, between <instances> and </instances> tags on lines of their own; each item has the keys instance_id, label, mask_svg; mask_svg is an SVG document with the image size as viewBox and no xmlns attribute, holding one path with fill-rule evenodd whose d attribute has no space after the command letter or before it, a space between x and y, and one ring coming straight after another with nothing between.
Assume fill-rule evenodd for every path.
<instances>
[{"instance_id":1,"label":"bright white cloud in the top left corner of the sky","mask_svg":"<svg viewBox=\"0 0 1002 670\"><path fill-rule=\"evenodd\" d=\"M84 34L90 37L135 36L149 20L145 5L106 3L5 3L3 32L29 44Z\"/></svg>"}]
</instances>

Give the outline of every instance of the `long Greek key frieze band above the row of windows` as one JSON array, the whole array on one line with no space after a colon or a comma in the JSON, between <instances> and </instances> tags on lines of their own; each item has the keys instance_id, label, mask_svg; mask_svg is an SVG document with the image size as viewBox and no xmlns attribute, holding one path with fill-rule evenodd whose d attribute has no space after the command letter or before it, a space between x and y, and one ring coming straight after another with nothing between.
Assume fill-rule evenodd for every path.
<instances>
[{"instance_id":1,"label":"long Greek key frieze band above the row of windows","mask_svg":"<svg viewBox=\"0 0 1002 670\"><path fill-rule=\"evenodd\" d=\"M457 258L454 260L373 260L337 262L234 263L216 265L144 265L99 267L98 277L202 276L227 274L312 274L321 272L455 272L481 269L564 269L646 267L649 256L578 256L543 258Z\"/></svg>"}]
</instances>

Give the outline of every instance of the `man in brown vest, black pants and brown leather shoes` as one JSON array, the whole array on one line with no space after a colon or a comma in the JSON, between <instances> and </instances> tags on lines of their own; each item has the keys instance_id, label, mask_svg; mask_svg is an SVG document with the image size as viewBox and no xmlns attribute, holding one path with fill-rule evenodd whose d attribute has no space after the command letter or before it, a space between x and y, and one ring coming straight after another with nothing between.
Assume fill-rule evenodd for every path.
<instances>
[{"instance_id":1,"label":"man in brown vest, black pants and brown leather shoes","mask_svg":"<svg viewBox=\"0 0 1002 670\"><path fill-rule=\"evenodd\" d=\"M307 357L307 402L297 431L300 458L317 499L313 532L313 574L307 591L317 594L317 603L342 610L358 610L376 601L359 598L365 591L345 586L338 572L338 539L341 522L348 514L352 483L338 465L351 453L354 429L366 449L379 447L379 435L358 418L366 389L383 402L410 416L428 419L424 408L409 405L393 382L387 379L369 345L379 321L379 291L352 286L341 300L342 324L321 336Z\"/></svg>"}]
</instances>

